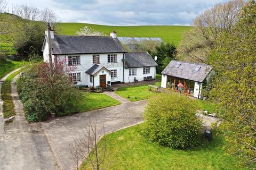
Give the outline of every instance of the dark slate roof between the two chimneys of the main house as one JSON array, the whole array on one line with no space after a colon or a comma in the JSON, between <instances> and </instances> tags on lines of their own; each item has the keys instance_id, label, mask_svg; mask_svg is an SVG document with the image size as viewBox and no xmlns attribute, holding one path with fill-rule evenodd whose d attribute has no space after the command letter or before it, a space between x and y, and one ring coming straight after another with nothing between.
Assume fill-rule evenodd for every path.
<instances>
[{"instance_id":1,"label":"dark slate roof between the two chimneys of the main house","mask_svg":"<svg viewBox=\"0 0 256 170\"><path fill-rule=\"evenodd\" d=\"M54 35L52 54L125 53L118 39L107 36Z\"/></svg>"}]
</instances>

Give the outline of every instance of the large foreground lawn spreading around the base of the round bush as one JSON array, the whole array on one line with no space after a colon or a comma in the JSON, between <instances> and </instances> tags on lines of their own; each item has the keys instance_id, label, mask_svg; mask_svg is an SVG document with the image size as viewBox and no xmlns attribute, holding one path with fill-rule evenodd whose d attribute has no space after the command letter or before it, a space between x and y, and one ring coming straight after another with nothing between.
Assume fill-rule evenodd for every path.
<instances>
[{"instance_id":1,"label":"large foreground lawn spreading around the base of the round bush","mask_svg":"<svg viewBox=\"0 0 256 170\"><path fill-rule=\"evenodd\" d=\"M158 146L148 141L141 131L140 124L107 134L107 142L111 143L108 169L245 169L236 167L236 157L224 155L225 141L221 137L213 135L211 141L203 140L202 146L179 150Z\"/></svg>"}]
</instances>

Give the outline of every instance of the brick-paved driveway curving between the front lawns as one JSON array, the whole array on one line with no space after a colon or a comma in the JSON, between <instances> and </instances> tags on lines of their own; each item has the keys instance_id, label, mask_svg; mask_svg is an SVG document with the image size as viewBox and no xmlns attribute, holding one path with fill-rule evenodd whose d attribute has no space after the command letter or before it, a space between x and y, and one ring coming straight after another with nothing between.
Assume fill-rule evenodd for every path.
<instances>
[{"instance_id":1,"label":"brick-paved driveway curving between the front lawns","mask_svg":"<svg viewBox=\"0 0 256 170\"><path fill-rule=\"evenodd\" d=\"M142 122L142 113L146 104L146 100L137 102L125 101L118 106L78 113L72 116L58 117L42 122L42 128L50 142L60 168L63 170L76 168L70 153L70 145L74 143L75 139L79 138L82 129L87 128L89 120L92 123L95 123L95 120L97 120L98 127L102 127L104 124L106 133L114 132Z\"/></svg>"}]
</instances>

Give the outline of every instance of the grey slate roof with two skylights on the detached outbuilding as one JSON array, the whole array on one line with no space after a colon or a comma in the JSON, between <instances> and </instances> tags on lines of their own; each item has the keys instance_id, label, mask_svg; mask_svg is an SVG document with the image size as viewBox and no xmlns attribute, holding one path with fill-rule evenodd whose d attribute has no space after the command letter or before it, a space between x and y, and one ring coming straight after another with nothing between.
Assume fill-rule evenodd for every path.
<instances>
[{"instance_id":1,"label":"grey slate roof with two skylights on the detached outbuilding","mask_svg":"<svg viewBox=\"0 0 256 170\"><path fill-rule=\"evenodd\" d=\"M177 68L175 65L180 64ZM200 67L198 71L195 71L196 67ZM161 74L171 75L187 80L193 80L197 82L203 82L207 75L211 72L212 66L207 64L197 64L172 60L162 71Z\"/></svg>"}]
</instances>

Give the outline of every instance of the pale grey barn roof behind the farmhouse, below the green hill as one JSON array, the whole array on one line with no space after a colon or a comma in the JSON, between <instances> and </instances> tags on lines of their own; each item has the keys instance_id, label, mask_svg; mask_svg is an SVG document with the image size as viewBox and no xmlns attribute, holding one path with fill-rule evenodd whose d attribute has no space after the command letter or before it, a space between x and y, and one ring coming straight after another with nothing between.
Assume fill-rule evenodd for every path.
<instances>
[{"instance_id":1,"label":"pale grey barn roof behind the farmhouse, below the green hill","mask_svg":"<svg viewBox=\"0 0 256 170\"><path fill-rule=\"evenodd\" d=\"M163 40L157 37L117 37L125 45L139 45L145 41L158 41L162 43Z\"/></svg>"}]
</instances>

